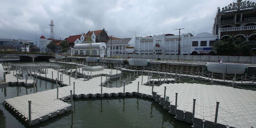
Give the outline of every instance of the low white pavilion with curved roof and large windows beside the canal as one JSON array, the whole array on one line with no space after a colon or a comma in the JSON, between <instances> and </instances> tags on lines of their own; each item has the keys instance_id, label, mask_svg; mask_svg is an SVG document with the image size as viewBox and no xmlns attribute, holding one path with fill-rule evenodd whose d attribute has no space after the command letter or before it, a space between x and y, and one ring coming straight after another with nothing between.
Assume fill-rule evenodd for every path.
<instances>
[{"instance_id":1,"label":"low white pavilion with curved roof and large windows beside the canal","mask_svg":"<svg viewBox=\"0 0 256 128\"><path fill-rule=\"evenodd\" d=\"M71 53L74 55L94 55L100 58L105 55L106 44L101 43L87 43L87 44L76 44Z\"/></svg>"}]
</instances>

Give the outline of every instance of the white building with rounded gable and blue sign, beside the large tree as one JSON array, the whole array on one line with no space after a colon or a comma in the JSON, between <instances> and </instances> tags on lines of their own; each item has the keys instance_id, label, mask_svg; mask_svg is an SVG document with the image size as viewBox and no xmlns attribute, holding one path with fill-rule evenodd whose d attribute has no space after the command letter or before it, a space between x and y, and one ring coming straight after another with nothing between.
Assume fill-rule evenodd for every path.
<instances>
[{"instance_id":1,"label":"white building with rounded gable and blue sign, beside the large tree","mask_svg":"<svg viewBox=\"0 0 256 128\"><path fill-rule=\"evenodd\" d=\"M216 52L212 50L212 44L218 40L218 35L203 32L196 36L190 37L190 51L192 55L209 54L215 55Z\"/></svg>"}]
</instances>

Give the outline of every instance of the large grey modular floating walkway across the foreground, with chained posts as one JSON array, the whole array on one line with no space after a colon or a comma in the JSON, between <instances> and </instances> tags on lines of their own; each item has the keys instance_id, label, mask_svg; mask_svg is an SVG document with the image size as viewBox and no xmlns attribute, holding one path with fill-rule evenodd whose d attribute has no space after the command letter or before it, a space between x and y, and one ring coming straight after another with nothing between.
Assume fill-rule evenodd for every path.
<instances>
[{"instance_id":1,"label":"large grey modular floating walkway across the foreground, with chained posts","mask_svg":"<svg viewBox=\"0 0 256 128\"><path fill-rule=\"evenodd\" d=\"M105 70L105 69L104 69ZM48 69L57 76L57 71ZM42 76L43 78L43 76ZM45 79L52 79L52 74L47 74ZM55 79L52 79L55 80ZM102 82L105 83L104 77ZM75 98L103 97L103 96L131 96L138 95L156 99L164 109L175 115L176 119L193 123L194 127L255 127L256 126L256 91L236 89L218 85L189 84L189 83L163 83L160 86L141 85L148 83L147 76L139 76L131 83L121 87L101 86L101 77L89 80L71 77L71 86L38 92L35 94L9 98L5 100L5 106L9 107L25 121L29 117L28 100L32 100L32 116L30 125L40 123L72 109L71 105L64 101L70 101L70 90L73 90ZM75 82L75 86L73 86ZM62 84L69 85L69 75L63 74ZM139 85L139 93L138 93ZM102 88L102 92L101 92ZM164 93L166 88L166 93ZM164 95L165 94L165 95ZM169 100L165 97L169 97ZM176 98L177 97L177 100ZM193 98L196 98L193 105ZM165 100L166 99L166 100ZM64 101L62 101L64 100ZM177 102L176 102L177 101ZM217 122L216 101L219 101ZM177 104L177 106L176 106ZM193 106L195 106L194 120ZM218 105L217 105L218 106Z\"/></svg>"}]
</instances>

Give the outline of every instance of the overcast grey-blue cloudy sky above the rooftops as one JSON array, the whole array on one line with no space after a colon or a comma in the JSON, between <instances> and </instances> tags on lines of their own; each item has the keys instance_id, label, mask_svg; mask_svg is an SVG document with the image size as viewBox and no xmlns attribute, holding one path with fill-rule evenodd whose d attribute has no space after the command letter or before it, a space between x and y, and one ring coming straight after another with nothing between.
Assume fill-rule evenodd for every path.
<instances>
[{"instance_id":1,"label":"overcast grey-blue cloudy sky above the rooftops","mask_svg":"<svg viewBox=\"0 0 256 128\"><path fill-rule=\"evenodd\" d=\"M0 0L0 38L55 39L105 29L125 38L153 34L210 32L217 7L236 0Z\"/></svg>"}]
</instances>

